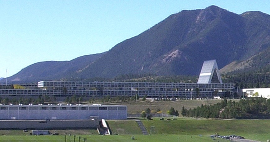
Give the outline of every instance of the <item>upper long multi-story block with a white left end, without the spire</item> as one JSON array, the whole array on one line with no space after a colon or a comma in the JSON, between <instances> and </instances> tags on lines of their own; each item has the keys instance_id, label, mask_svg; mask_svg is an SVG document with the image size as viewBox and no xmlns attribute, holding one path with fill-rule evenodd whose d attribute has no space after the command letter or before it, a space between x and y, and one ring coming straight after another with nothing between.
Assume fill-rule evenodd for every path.
<instances>
[{"instance_id":1,"label":"upper long multi-story block with a white left end, without the spire","mask_svg":"<svg viewBox=\"0 0 270 142\"><path fill-rule=\"evenodd\" d=\"M83 97L178 97L190 98L191 94L200 98L232 94L233 84L196 83L144 83L144 82L81 82L81 81L40 81L41 89L36 93L46 95L67 95Z\"/></svg>"}]
</instances>

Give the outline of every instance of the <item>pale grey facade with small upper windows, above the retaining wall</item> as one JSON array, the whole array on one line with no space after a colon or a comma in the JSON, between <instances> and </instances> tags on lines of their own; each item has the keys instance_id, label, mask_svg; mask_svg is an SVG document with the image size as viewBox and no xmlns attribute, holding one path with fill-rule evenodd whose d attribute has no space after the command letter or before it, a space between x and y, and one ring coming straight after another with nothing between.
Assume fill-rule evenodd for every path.
<instances>
[{"instance_id":1,"label":"pale grey facade with small upper windows, above the retaining wall","mask_svg":"<svg viewBox=\"0 0 270 142\"><path fill-rule=\"evenodd\" d=\"M127 119L125 105L0 105L0 119Z\"/></svg>"}]
</instances>

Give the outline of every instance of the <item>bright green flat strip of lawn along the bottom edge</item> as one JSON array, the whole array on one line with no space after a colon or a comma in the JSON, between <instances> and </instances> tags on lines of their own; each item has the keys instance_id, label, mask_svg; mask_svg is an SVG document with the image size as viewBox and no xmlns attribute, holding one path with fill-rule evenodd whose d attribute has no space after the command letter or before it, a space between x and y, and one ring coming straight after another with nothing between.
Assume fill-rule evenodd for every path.
<instances>
[{"instance_id":1,"label":"bright green flat strip of lawn along the bottom edge","mask_svg":"<svg viewBox=\"0 0 270 142\"><path fill-rule=\"evenodd\" d=\"M82 138L87 138L86 142L217 142L217 141L226 141L221 139L212 140L209 136L199 136L199 135L134 135L135 140L131 140L132 135L112 135L112 136L100 136L100 135L82 135ZM69 142L69 137L67 136L67 142ZM71 136L72 138L72 136ZM65 136L0 136L0 141L2 142L59 142L65 141ZM71 139L71 142L74 140ZM78 138L75 138L75 141L78 142ZM83 142L83 139L80 140Z\"/></svg>"}]
</instances>

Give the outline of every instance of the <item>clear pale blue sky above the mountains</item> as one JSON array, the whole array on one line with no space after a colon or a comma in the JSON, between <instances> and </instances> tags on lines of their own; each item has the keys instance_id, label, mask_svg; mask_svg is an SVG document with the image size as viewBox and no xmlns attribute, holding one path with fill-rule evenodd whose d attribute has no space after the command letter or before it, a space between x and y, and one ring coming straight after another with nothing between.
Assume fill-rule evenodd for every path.
<instances>
[{"instance_id":1,"label":"clear pale blue sky above the mountains","mask_svg":"<svg viewBox=\"0 0 270 142\"><path fill-rule=\"evenodd\" d=\"M0 0L0 77L108 51L171 14L210 5L270 14L268 0Z\"/></svg>"}]
</instances>

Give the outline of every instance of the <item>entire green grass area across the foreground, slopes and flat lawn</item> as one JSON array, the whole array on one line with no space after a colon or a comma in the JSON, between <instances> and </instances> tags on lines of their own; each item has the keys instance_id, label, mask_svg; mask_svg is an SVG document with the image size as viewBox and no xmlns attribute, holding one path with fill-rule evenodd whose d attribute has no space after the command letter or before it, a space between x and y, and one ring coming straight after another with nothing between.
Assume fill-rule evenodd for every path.
<instances>
[{"instance_id":1,"label":"entire green grass area across the foreground, slopes and flat lawn","mask_svg":"<svg viewBox=\"0 0 270 142\"><path fill-rule=\"evenodd\" d=\"M0 141L6 142L58 142L65 141L65 132L71 134L71 141L73 135L87 138L86 141L93 142L127 142L127 141L147 141L147 142L161 142L161 141L226 141L216 138L212 140L211 134L218 133L220 135L239 135L247 139L267 141L270 139L270 120L208 120L208 119L191 119L178 118L177 120L162 121L158 118L154 120L142 120L146 126L147 131L151 134L142 135L142 132L134 120L109 120L108 121L112 133L118 135L100 136L97 135L96 130L54 130L58 132L59 136L25 136L29 135L22 131L0 131ZM131 136L135 136L136 140L131 140ZM67 141L69 142L69 137ZM78 138L75 138L79 141ZM83 140L80 140L83 142Z\"/></svg>"}]
</instances>

